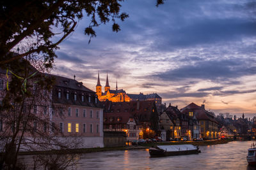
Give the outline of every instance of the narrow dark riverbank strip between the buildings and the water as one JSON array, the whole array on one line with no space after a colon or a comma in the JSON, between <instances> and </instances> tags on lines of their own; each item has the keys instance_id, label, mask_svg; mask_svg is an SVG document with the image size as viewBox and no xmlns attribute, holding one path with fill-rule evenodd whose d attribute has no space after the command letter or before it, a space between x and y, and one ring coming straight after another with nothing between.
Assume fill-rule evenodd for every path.
<instances>
[{"instance_id":1,"label":"narrow dark riverbank strip between the buildings and the water","mask_svg":"<svg viewBox=\"0 0 256 170\"><path fill-rule=\"evenodd\" d=\"M79 148L71 150L49 150L49 151L35 151L35 152L20 152L19 155L38 155L38 154L70 154L70 153L92 153L92 152L106 152L115 150L140 150L147 149L154 145L183 145L191 144L196 146L218 145L232 141L232 139L216 139L209 141L172 141L161 143L146 143L138 146L120 146L120 147L105 147L105 148Z\"/></svg>"}]
</instances>

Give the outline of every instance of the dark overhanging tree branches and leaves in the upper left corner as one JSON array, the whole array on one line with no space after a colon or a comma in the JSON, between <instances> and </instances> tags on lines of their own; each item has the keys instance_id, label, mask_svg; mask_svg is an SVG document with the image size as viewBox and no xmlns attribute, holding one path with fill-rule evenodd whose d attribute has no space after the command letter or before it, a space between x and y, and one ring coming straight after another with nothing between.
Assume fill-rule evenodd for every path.
<instances>
[{"instance_id":1,"label":"dark overhanging tree branches and leaves in the upper left corner","mask_svg":"<svg viewBox=\"0 0 256 170\"><path fill-rule=\"evenodd\" d=\"M120 31L116 20L124 21L127 13L120 13L124 0L3 0L0 2L0 66L31 53L41 53L45 66L52 67L54 50L74 31L77 21L90 17L84 34L90 39L96 36L93 27L113 22L112 30ZM157 6L163 0L157 0ZM61 31L61 38L52 38ZM29 50L13 56L10 51L18 48L26 38L36 39ZM89 41L90 43L90 41ZM6 67L6 66L5 66Z\"/></svg>"}]
</instances>

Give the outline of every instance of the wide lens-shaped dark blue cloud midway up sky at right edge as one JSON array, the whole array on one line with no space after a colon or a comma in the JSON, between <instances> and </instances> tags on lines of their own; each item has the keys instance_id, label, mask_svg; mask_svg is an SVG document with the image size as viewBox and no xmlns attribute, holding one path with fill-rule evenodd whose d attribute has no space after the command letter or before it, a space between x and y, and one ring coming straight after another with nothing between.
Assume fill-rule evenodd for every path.
<instances>
[{"instance_id":1,"label":"wide lens-shaped dark blue cloud midway up sky at right edge","mask_svg":"<svg viewBox=\"0 0 256 170\"><path fill-rule=\"evenodd\" d=\"M256 74L255 67L244 66L245 64L242 60L238 59L204 60L202 62L196 62L195 65L180 66L153 76L169 81L186 79L227 81L229 78Z\"/></svg>"}]
</instances>

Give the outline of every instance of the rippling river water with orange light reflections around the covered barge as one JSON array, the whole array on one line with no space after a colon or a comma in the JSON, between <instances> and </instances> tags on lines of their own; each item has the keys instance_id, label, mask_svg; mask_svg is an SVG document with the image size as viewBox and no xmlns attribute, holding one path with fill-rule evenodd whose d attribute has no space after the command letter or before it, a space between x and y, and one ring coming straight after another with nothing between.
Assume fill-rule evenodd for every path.
<instances>
[{"instance_id":1,"label":"rippling river water with orange light reflections around the covered barge","mask_svg":"<svg viewBox=\"0 0 256 170\"><path fill-rule=\"evenodd\" d=\"M148 149L83 153L70 169L256 169L246 162L253 141L200 146L201 153L151 158Z\"/></svg>"}]
</instances>

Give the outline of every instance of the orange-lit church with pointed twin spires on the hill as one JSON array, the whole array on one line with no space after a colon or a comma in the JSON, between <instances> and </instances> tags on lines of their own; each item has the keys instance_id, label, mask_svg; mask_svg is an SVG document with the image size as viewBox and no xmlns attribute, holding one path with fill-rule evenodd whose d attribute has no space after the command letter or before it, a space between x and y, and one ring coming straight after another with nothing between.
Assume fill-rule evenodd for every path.
<instances>
[{"instance_id":1,"label":"orange-lit church with pointed twin spires on the hill","mask_svg":"<svg viewBox=\"0 0 256 170\"><path fill-rule=\"evenodd\" d=\"M120 89L118 90L117 87L117 80L116 80L116 90L110 90L110 86L108 83L108 73L107 73L107 80L106 85L104 88L104 92L102 92L102 86L100 85L100 75L98 73L98 82L96 85L96 94L99 98L99 101L112 101L112 102L129 102L131 98L127 96L125 90Z\"/></svg>"}]
</instances>

